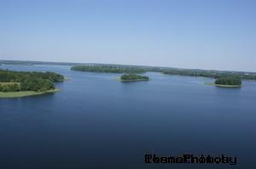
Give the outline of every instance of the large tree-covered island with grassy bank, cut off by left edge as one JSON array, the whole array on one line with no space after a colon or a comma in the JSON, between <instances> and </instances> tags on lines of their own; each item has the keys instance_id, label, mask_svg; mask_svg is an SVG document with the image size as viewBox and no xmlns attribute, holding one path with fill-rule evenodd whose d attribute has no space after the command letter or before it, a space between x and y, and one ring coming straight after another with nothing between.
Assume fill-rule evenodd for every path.
<instances>
[{"instance_id":1,"label":"large tree-covered island with grassy bank, cut off by left edge","mask_svg":"<svg viewBox=\"0 0 256 169\"><path fill-rule=\"evenodd\" d=\"M54 82L64 81L55 72L0 70L0 98L14 98L54 93Z\"/></svg>"}]
</instances>

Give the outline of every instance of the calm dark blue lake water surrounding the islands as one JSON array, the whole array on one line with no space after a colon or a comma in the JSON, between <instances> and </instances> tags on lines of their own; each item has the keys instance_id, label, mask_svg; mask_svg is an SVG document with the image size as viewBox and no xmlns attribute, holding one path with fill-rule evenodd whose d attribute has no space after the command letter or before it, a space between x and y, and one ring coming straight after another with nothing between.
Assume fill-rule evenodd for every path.
<instances>
[{"instance_id":1,"label":"calm dark blue lake water surrounding the islands","mask_svg":"<svg viewBox=\"0 0 256 169\"><path fill-rule=\"evenodd\" d=\"M149 82L61 65L2 65L55 71L61 93L0 99L0 168L254 168L256 82L149 72ZM227 155L229 164L144 164L145 154Z\"/></svg>"}]
</instances>

